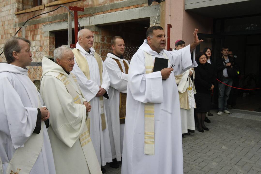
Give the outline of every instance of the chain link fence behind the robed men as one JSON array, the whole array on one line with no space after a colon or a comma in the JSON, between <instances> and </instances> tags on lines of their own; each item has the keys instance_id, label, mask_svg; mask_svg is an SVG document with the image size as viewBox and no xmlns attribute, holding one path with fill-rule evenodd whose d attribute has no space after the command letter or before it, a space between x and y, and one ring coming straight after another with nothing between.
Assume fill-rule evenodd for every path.
<instances>
[{"instance_id":1,"label":"chain link fence behind the robed men","mask_svg":"<svg viewBox=\"0 0 261 174\"><path fill-rule=\"evenodd\" d=\"M125 47L125 51L123 54L123 57L130 61L132 56L136 51L138 51L139 47ZM32 63L30 66L28 66L28 76L29 78L35 83L37 88L39 89L39 80L41 79L42 75L42 58L45 55L53 56L53 52L55 50L54 46L31 46L31 52L32 52ZM112 52L110 47L104 47L95 50L103 59L105 60L107 53ZM3 48L0 48L0 52L3 52ZM0 62L6 63L6 59L4 57L4 53L0 56Z\"/></svg>"}]
</instances>

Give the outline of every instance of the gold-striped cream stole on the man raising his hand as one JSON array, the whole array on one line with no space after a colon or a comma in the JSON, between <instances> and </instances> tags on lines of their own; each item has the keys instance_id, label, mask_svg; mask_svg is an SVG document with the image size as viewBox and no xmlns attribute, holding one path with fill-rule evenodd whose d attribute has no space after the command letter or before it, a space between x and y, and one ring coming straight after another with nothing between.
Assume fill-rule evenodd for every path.
<instances>
[{"instance_id":1,"label":"gold-striped cream stole on the man raising his hand","mask_svg":"<svg viewBox=\"0 0 261 174\"><path fill-rule=\"evenodd\" d=\"M143 51L145 57L145 74L153 72L154 61L152 56ZM167 55L163 52L163 56ZM154 103L144 104L144 154L155 154L155 134L154 134Z\"/></svg>"}]
</instances>

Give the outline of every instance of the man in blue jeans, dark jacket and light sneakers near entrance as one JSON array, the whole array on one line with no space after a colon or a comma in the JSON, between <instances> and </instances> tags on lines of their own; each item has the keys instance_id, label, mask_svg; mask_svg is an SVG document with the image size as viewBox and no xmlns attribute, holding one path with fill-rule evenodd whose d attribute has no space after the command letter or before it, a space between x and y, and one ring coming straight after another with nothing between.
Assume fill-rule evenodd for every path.
<instances>
[{"instance_id":1,"label":"man in blue jeans, dark jacket and light sneakers near entrance","mask_svg":"<svg viewBox=\"0 0 261 174\"><path fill-rule=\"evenodd\" d=\"M228 47L222 47L222 56L217 60L217 78L222 81L218 83L218 113L217 115L222 115L223 113L229 114L227 110L227 101L229 98L229 93L233 83L233 71L235 62L232 57L228 55ZM229 86L227 86L229 85Z\"/></svg>"}]
</instances>

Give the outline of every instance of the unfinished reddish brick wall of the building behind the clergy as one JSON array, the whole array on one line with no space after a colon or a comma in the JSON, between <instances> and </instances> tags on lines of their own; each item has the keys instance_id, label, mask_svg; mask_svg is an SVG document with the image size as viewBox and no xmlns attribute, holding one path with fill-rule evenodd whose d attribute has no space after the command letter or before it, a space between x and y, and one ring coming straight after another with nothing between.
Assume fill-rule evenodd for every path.
<instances>
[{"instance_id":1,"label":"unfinished reddish brick wall of the building behind the clergy","mask_svg":"<svg viewBox=\"0 0 261 174\"><path fill-rule=\"evenodd\" d=\"M55 0L42 0L42 4L47 4L50 2L54 2ZM106 4L111 4L114 2L121 2L124 0L81 0L81 1L75 1L75 2L70 2L70 3L65 3L61 5L65 5L66 7L69 6L78 6L78 7L83 7L83 8L91 8L91 7L98 7L101 5L106 5ZM153 2L152 5L158 4L157 2ZM95 13L95 11L91 14L85 14L85 15L79 15L78 18L81 17L86 17L86 16L93 16L93 15L99 15L99 14L105 14L105 13L111 13L114 11L121 11L121 10L127 10L127 9L132 9L132 8L138 8L138 7L144 7L147 6L147 3L140 4L140 5L132 5L129 7L123 7L123 8L116 8L116 9L104 9L104 11L100 11ZM37 11L31 11L27 13L22 13L15 15L14 13L17 11L21 11L24 9L28 9L30 7L33 7L33 0L0 0L0 48L3 48L3 45L5 41L11 37L14 36L16 31L20 28L23 22L28 20L29 18L53 10L57 8L59 5L51 6L51 7L45 7L44 9L37 10ZM67 19L63 20L46 20L46 22L42 23L37 23L37 20L40 21L44 19L45 17L51 17L63 13L67 13L66 8L59 8L56 11L53 11L48 14L40 15L38 17L35 17L33 20L36 21L32 25L28 25L25 28L25 38L29 39L32 42L32 46L39 47L38 51L41 51L41 49L45 49L47 52L46 54L48 55L53 55L53 51L55 48L55 35L54 32L43 32L42 27L45 24L48 23L55 23L55 22L60 22L60 21L67 21ZM43 21L43 20L42 20ZM19 27L16 27L19 26ZM126 28L125 28L126 29ZM125 32L125 33L124 33ZM135 38L141 37L139 34L135 34L132 32L128 32L127 30L124 31L114 31L113 29L102 29L101 33L97 32L95 34L95 49L99 49L101 47L108 47L110 48L110 41L111 38L115 35L123 35L123 38L126 42L126 45L130 46L140 46L140 43L136 43L137 40ZM16 35L18 37L22 37L22 30L18 32ZM144 34L143 34L144 36ZM67 35L66 35L67 37ZM33 52L33 55L37 55L37 51ZM5 62L5 59L2 58L3 54L0 56L0 61ZM34 62L40 62L41 61L41 56L42 55L37 55L33 56L33 61ZM40 58L40 59L39 59ZM30 78L33 79L39 79L41 76L41 68L37 67L32 67L29 69L31 72Z\"/></svg>"}]
</instances>

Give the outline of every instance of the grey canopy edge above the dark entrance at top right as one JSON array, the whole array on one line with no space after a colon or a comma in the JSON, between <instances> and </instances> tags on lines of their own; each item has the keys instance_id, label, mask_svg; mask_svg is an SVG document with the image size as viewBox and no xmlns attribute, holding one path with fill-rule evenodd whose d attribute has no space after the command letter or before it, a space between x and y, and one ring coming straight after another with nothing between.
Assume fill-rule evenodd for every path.
<instances>
[{"instance_id":1,"label":"grey canopy edge above the dark entrance at top right","mask_svg":"<svg viewBox=\"0 0 261 174\"><path fill-rule=\"evenodd\" d=\"M185 10L231 4L251 0L185 0Z\"/></svg>"}]
</instances>

